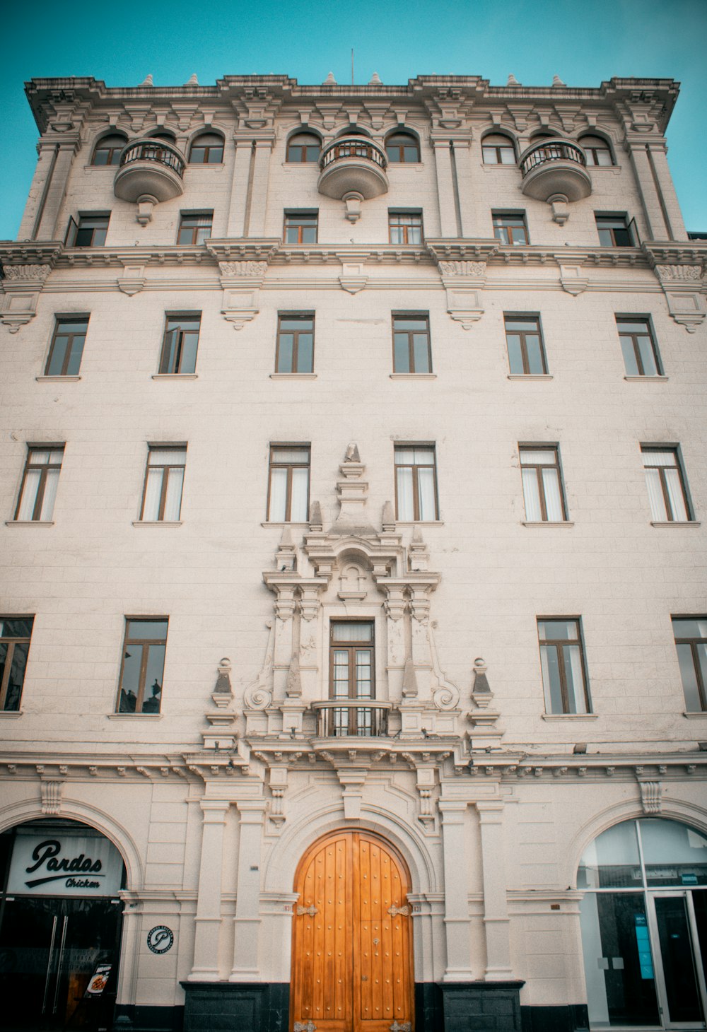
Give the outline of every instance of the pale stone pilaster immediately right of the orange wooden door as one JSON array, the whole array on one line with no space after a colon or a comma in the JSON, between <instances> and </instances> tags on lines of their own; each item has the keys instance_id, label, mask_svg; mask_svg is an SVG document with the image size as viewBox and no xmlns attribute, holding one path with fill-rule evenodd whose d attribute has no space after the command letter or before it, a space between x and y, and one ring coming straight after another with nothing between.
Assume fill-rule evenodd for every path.
<instances>
[{"instance_id":1,"label":"pale stone pilaster immediately right of the orange wooden door","mask_svg":"<svg viewBox=\"0 0 707 1032\"><path fill-rule=\"evenodd\" d=\"M445 937L447 967L443 981L472 981L471 940L469 934L469 879L464 857L464 817L467 803L441 800L442 848L445 874Z\"/></svg>"}]
</instances>

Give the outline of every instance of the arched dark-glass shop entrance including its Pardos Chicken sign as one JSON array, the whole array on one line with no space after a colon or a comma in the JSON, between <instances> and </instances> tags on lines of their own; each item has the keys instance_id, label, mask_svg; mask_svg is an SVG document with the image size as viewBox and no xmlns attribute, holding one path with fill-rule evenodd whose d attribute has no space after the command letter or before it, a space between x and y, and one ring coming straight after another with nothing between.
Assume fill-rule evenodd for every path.
<instances>
[{"instance_id":1,"label":"arched dark-glass shop entrance including its Pardos Chicken sign","mask_svg":"<svg viewBox=\"0 0 707 1032\"><path fill-rule=\"evenodd\" d=\"M109 1028L125 865L100 832L46 818L0 835L0 1028Z\"/></svg>"}]
</instances>

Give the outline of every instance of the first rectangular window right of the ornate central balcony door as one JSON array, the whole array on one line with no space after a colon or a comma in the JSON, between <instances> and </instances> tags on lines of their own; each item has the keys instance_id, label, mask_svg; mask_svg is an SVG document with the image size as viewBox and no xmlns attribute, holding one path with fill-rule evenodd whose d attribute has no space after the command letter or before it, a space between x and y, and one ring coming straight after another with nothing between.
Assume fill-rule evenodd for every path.
<instances>
[{"instance_id":1,"label":"first rectangular window right of the ornate central balcony door","mask_svg":"<svg viewBox=\"0 0 707 1032\"><path fill-rule=\"evenodd\" d=\"M589 713L579 619L538 620L546 713Z\"/></svg>"}]
</instances>

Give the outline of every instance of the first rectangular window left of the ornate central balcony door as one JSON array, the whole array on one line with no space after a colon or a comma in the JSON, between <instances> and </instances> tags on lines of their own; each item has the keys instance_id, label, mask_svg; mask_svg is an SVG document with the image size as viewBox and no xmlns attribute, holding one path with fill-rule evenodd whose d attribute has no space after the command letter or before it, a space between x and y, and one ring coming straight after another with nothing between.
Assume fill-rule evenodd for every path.
<instances>
[{"instance_id":1,"label":"first rectangular window left of the ornate central balcony door","mask_svg":"<svg viewBox=\"0 0 707 1032\"><path fill-rule=\"evenodd\" d=\"M119 713L159 713L168 617L126 617Z\"/></svg>"}]
</instances>

